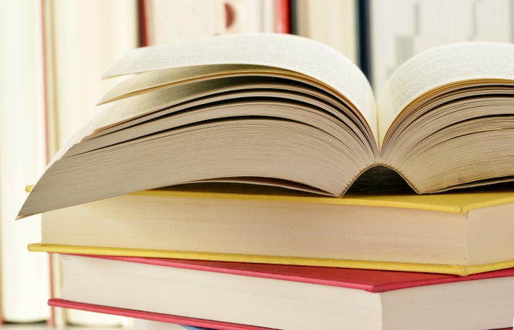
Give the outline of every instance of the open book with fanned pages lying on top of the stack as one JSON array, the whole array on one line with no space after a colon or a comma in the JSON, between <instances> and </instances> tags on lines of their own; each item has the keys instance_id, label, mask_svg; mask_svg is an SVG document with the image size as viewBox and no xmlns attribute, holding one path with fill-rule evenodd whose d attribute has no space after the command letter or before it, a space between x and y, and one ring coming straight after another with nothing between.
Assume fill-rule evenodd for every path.
<instances>
[{"instance_id":1,"label":"open book with fanned pages lying on top of the stack","mask_svg":"<svg viewBox=\"0 0 514 330\"><path fill-rule=\"evenodd\" d=\"M458 43L398 68L375 101L337 51L284 34L138 48L20 217L137 190L229 181L341 196L366 170L418 193L514 179L514 45Z\"/></svg>"}]
</instances>

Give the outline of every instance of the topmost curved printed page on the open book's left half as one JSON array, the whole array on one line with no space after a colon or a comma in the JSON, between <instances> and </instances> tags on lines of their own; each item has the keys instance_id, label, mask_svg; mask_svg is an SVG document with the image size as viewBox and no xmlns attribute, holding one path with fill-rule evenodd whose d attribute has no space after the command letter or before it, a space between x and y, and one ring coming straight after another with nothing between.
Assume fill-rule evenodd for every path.
<instances>
[{"instance_id":1,"label":"topmost curved printed page on the open book's left half","mask_svg":"<svg viewBox=\"0 0 514 330\"><path fill-rule=\"evenodd\" d=\"M298 36L238 34L138 48L115 63L104 78L213 64L272 66L311 76L346 98L376 136L376 105L366 76L333 48Z\"/></svg>"}]
</instances>

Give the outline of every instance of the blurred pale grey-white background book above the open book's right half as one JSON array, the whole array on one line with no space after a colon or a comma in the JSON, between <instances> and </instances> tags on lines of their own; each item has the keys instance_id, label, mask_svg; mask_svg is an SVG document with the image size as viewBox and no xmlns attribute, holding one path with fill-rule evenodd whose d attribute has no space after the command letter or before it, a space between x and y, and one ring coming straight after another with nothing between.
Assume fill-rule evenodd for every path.
<instances>
[{"instance_id":1,"label":"blurred pale grey-white background book above the open book's right half","mask_svg":"<svg viewBox=\"0 0 514 330\"><path fill-rule=\"evenodd\" d=\"M458 41L514 41L510 0L369 0L371 80L380 93L400 63Z\"/></svg>"}]
</instances>

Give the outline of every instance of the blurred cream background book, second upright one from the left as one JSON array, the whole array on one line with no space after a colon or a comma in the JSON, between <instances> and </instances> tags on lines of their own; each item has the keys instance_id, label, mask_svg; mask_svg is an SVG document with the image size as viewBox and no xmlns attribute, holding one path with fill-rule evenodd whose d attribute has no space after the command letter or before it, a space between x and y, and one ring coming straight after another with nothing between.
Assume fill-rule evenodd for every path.
<instances>
[{"instance_id":1,"label":"blurred cream background book, second upright one from the left","mask_svg":"<svg viewBox=\"0 0 514 330\"><path fill-rule=\"evenodd\" d=\"M44 0L41 4L46 110L41 123L46 125L46 152L50 159L79 126L101 110L95 105L111 83L100 81L99 76L121 54L138 46L138 11L136 1L125 0ZM24 187L35 180L36 177L19 185ZM52 297L59 297L60 274L58 258L53 256ZM46 307L46 301L42 306ZM51 323L56 326L126 324L125 319L104 314L64 309L52 312Z\"/></svg>"}]
</instances>

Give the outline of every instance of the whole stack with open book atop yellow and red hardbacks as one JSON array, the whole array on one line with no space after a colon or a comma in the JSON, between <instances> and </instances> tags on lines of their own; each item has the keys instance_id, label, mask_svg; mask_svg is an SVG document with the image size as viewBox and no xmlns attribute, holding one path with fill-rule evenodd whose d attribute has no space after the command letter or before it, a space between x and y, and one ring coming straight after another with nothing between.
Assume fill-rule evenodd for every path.
<instances>
[{"instance_id":1,"label":"whole stack with open book atop yellow and red hardbacks","mask_svg":"<svg viewBox=\"0 0 514 330\"><path fill-rule=\"evenodd\" d=\"M376 106L297 36L132 51L19 213L43 213L29 249L61 254L49 304L136 329L511 326L513 58L436 48Z\"/></svg>"}]
</instances>

